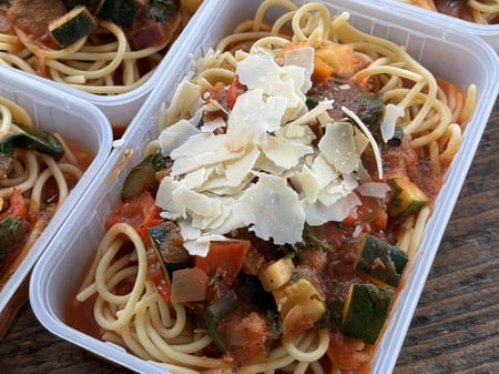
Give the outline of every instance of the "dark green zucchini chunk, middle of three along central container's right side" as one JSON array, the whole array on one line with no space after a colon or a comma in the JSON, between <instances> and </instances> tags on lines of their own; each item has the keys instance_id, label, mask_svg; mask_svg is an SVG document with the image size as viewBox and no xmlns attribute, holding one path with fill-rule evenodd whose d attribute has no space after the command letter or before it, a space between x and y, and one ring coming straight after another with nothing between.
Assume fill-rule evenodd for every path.
<instances>
[{"instance_id":1,"label":"dark green zucchini chunk, middle of three along central container's right side","mask_svg":"<svg viewBox=\"0 0 499 374\"><path fill-rule=\"evenodd\" d=\"M407 253L370 234L364 234L355 269L375 281L398 286L408 261Z\"/></svg>"}]
</instances>

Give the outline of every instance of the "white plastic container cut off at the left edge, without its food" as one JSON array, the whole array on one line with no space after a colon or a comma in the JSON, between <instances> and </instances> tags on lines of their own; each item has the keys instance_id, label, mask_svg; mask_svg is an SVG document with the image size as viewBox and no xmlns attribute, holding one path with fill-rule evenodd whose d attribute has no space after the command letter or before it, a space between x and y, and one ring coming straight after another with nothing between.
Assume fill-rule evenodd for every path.
<instances>
[{"instance_id":1,"label":"white plastic container cut off at the left edge, without its food","mask_svg":"<svg viewBox=\"0 0 499 374\"><path fill-rule=\"evenodd\" d=\"M0 291L1 313L104 164L112 148L112 132L106 118L94 105L16 71L0 70L0 97L26 109L40 129L58 132L93 155L81 180Z\"/></svg>"}]
</instances>

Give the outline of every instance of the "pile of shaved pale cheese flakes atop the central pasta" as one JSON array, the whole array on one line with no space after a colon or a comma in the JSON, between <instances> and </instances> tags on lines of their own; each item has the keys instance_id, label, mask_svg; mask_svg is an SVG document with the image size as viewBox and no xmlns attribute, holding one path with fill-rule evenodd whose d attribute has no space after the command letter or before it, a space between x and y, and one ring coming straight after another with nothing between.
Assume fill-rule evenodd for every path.
<instances>
[{"instance_id":1,"label":"pile of shaved pale cheese flakes atop the central pasta","mask_svg":"<svg viewBox=\"0 0 499 374\"><path fill-rule=\"evenodd\" d=\"M156 204L175 219L191 254L206 255L210 241L248 228L275 244L302 240L305 222L319 225L344 220L360 204L358 194L383 198L389 188L370 181L360 154L369 145L349 122L333 122L332 101L307 110L314 49L286 52L278 65L269 52L248 54L236 74L247 92L238 97L228 120L196 124L201 90L185 80L176 92L182 119L160 134L164 155L174 160L160 184ZM179 100L182 92L190 98ZM313 145L310 123L325 128ZM213 129L224 127L223 134ZM371 144L376 148L376 143Z\"/></svg>"}]
</instances>

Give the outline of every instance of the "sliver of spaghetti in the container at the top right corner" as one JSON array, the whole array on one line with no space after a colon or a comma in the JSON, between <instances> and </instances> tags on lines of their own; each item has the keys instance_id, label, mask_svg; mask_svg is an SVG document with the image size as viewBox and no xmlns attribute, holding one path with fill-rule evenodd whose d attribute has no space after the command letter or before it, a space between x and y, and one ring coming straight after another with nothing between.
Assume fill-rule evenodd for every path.
<instances>
[{"instance_id":1,"label":"sliver of spaghetti in the container at the top right corner","mask_svg":"<svg viewBox=\"0 0 499 374\"><path fill-rule=\"evenodd\" d=\"M480 24L495 24L499 19L498 0L399 0Z\"/></svg>"}]
</instances>

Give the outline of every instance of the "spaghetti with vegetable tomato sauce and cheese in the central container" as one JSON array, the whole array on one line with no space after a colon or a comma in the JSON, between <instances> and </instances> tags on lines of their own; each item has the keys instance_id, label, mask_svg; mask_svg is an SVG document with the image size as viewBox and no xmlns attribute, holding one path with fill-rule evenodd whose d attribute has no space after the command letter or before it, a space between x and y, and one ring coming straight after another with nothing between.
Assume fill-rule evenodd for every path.
<instances>
[{"instance_id":1,"label":"spaghetti with vegetable tomato sauce and cheese in the central container","mask_svg":"<svg viewBox=\"0 0 499 374\"><path fill-rule=\"evenodd\" d=\"M271 26L264 19L272 7L284 8L284 11ZM293 54L295 52L297 54ZM278 84L285 84L286 73L298 79L297 77L301 77L298 72L303 74L310 68L306 62L295 65L286 61L302 59L314 62L312 71L308 72L312 77L310 85L307 85L306 80L301 84L304 97L306 94L308 100L316 100L316 105L307 108L301 105L305 99L298 95L296 107L288 104L282 108L278 114L282 122L275 128L272 119L277 114L274 110L283 102L278 98L286 97L287 103L295 99L286 91L293 91L292 88L287 85L287 89L281 89ZM265 79L258 80L259 77L254 77L259 74L258 68L255 68L258 63L265 67L261 68L261 71L273 69L279 71L281 80L265 73L262 73ZM396 245L408 259L414 257L431 215L431 206L441 186L442 175L459 149L462 129L472 112L475 87L471 85L464 93L452 83L435 78L404 48L353 27L347 12L332 16L323 4L310 2L297 7L286 0L264 1L252 20L242 22L235 32L222 39L213 50L196 61L195 68L195 72L189 75L189 81L179 87L170 105L162 111L160 115L162 134L145 148L147 158L154 158L159 154L157 150L161 150L162 158L165 159L165 164L155 169L154 179L157 180L151 181L151 184L157 184L151 190L146 188L145 192L139 189L130 193L131 198L123 198L122 205L119 204L121 208L108 219L105 235L78 291L77 301L72 303L71 312L68 314L70 324L85 328L72 322L71 315L82 309L82 303L91 305L93 317L99 325L99 330L92 331L91 334L123 345L144 360L164 363L173 373L365 371L373 356L377 337L373 342L368 337L352 336L342 330L347 322L342 322L343 327L338 327L338 324L330 323L334 317L329 316L329 322L324 324L324 320L315 319L314 313L316 309L324 306L324 300L327 299L340 302L344 305L342 313L345 314L348 306L346 290L359 280L369 283L369 279L359 272L346 270L346 266L353 266L349 256L358 255L355 252L357 250L352 247L360 245L360 237L364 237L366 232ZM265 85L267 83L269 88ZM253 84L258 88L253 89ZM264 88L259 88L258 84L263 84ZM296 82L293 84L299 85ZM333 89L332 84L337 85ZM328 93L336 90L347 98L322 95L324 87L329 90ZM268 91L265 91L266 89ZM262 94L262 91L266 93ZM404 131L400 144L388 145L390 138L385 142L380 140L381 135L376 134L374 128L367 123L360 108L353 108L357 100L354 97L358 94L354 92L369 92L369 98L379 98L385 109L384 122L390 121L389 110L397 112L391 120ZM264 101L242 104L245 98L252 94L265 97L267 103L277 98L273 102L274 109L265 107ZM335 100L343 100L340 108L332 107ZM252 122L251 127L245 127L244 120L241 123L236 122L238 117L249 121L253 119L251 115L258 114L247 114L253 113L251 109L246 107L241 109L242 107L237 105L247 108L261 105L266 112L265 115L257 117L257 121ZM332 122L334 115L339 115L337 122ZM255 130L262 125L261 122L268 122L266 125L272 129L263 131L264 135ZM241 132L233 134L231 131L236 131L234 129L238 125ZM203 130L200 130L200 127ZM301 206L309 206L308 202L314 200L310 191L319 186L316 186L318 182L314 184L315 182L313 183L307 175L315 172L317 178L326 178L318 170L324 170L327 162L319 165L318 163L323 161L318 154L327 152L324 140L329 131L335 131L333 129L339 127L345 131L339 133L345 137L345 142L348 142L347 133L352 130L354 150L348 153L348 158L338 163L335 163L334 156L327 161L335 163L337 168L335 173L342 174L342 180L339 184L328 184L327 192L316 192L316 195L323 193L320 199L324 202L314 206L324 208L326 201L335 200L332 191L345 191L342 189L349 183L355 188L366 189L363 190L366 191L366 195L361 196L363 192L358 195L347 193L343 196L345 199L336 199L330 203L334 205L336 201L340 201L345 204L334 205L334 211L335 214L339 214L337 212L343 209L342 206L346 206L346 214L339 219L326 220L340 223L324 221L317 223L320 214L315 215L310 208L305 214L308 214L307 220L310 219L307 224L313 228L307 231L305 224L303 237L292 236L294 230L287 228L288 225L293 228L295 218L301 216L301 213L288 208L294 204L289 198L294 192L289 192L288 186L293 185L301 192L297 199L305 195ZM384 131L383 123L380 127ZM190 137L182 139L179 129L183 129ZM297 135L294 135L295 133ZM196 137L201 141L194 143L195 146L193 145L191 150L190 141L194 141ZM261 142L261 137L266 137L265 141ZM217 143L222 145L213 149L206 145L220 139L225 139L224 142ZM279 142L283 139L284 141ZM334 142L335 138L327 140ZM255 154L258 152L255 151L255 144L264 151ZM278 145L274 148L274 144ZM286 146L291 146L289 144L293 144L293 151L289 153L299 160L297 164L286 161L293 159L283 151ZM338 146L335 152L342 153L343 151L339 151L344 146L342 142L335 144ZM230 151L227 153L221 151L223 154L216 155L215 153L224 146ZM274 152L278 155L273 156ZM356 152L360 154L358 163L352 166L353 169L343 169ZM303 156L296 155L297 153ZM191 162L193 158L194 162ZM206 158L210 160L206 161ZM218 158L223 162L218 162ZM248 161L249 159L253 161ZM312 159L317 163L310 161ZM248 168L247 174L241 178L241 184L223 184L224 181L225 183L233 181L240 171L238 168L245 168L241 166L241 163L246 162L253 164ZM413 163L417 166L409 165ZM136 171L146 168L145 164L141 164ZM132 178L133 172L135 171L132 171L129 178ZM224 173L227 179L223 179ZM419 206L419 210L407 216L384 215L386 204L391 204L386 195L390 190L386 183L399 173L408 174L415 184L425 190L428 200L425 206ZM274 179L273 174L278 178ZM222 182L217 178L221 178ZM284 185L279 184L283 180ZM257 189L259 183L264 184L262 195ZM177 185L181 188L177 189ZM126 189L128 186L123 191ZM380 189L380 192L373 189ZM151 194L156 194L155 200ZM269 198L266 199L267 196ZM242 208L247 199L249 206ZM360 205L356 203L356 199L360 199ZM279 201L284 202L279 204ZM383 203L379 203L380 201ZM221 204L216 205L217 202ZM359 208L367 204L373 205L366 210ZM225 205L230 205L230 209L224 210ZM252 209L252 205L257 208ZM163 210L161 214L160 208ZM212 211L204 214L204 210ZM236 213L231 215L233 210ZM251 221L251 216L259 216L261 210L271 216L265 224L258 224L256 219ZM284 210L285 213L279 215L279 210ZM353 210L357 210L357 213L353 213ZM320 212L326 214L326 211L324 209ZM140 222L132 222L132 215L135 218L140 215ZM246 216L249 216L247 221ZM281 220L286 222L279 223ZM274 230L274 225L277 229ZM160 235L163 240L161 243L155 242L157 237L152 231L159 226L164 230ZM251 226L249 230L246 230L247 226ZM192 231L197 235L194 240L189 236ZM223 235L224 239L221 239ZM286 235L293 239L289 240ZM207 237L207 252L203 252L205 243L203 237ZM179 240L181 244L177 243ZM307 244L301 245L302 240ZM249 249L242 249L245 244L241 243L246 241L251 243ZM223 252L227 245L232 251L228 255ZM272 249L267 249L269 245ZM302 252L299 254L289 252L289 245L297 245ZM335 245L336 250L340 250L337 252L335 249L332 250ZM155 246L161 246L160 252L163 252L160 254L154 250ZM285 255L278 254L279 251L284 251ZM166 261L164 259L166 252L175 260ZM266 343L262 344L258 341L258 337L262 337L259 333L264 328L261 325L264 323L262 321L271 319L268 315L263 317L259 314L261 305L255 307L253 304L246 304L246 300L240 294L244 294L245 291L237 289L235 295L232 291L227 291L236 289L236 285L227 286L225 283L231 282L226 281L227 279L236 275L231 275L228 270L231 267L226 262L236 262L240 252L244 252L240 264L242 267L237 267L238 277L237 282L234 282L244 287L245 282L249 282L248 279L257 274L262 286L264 289L268 286L271 290L265 289L267 295L273 295L277 305L276 312L279 315L282 331L272 343L265 341ZM187 260L183 255L186 255ZM215 275L211 273L210 261L215 261L213 260L215 257L218 263L213 266L225 269L224 273L215 272ZM163 260L170 264L184 264L187 261L190 265L182 270L173 270L165 276L166 270L164 272L160 270ZM337 267L334 265L336 262L340 264ZM295 264L298 270L294 267ZM278 270L273 271L274 265L278 266ZM243 270L240 272L241 269ZM347 281L332 280L323 271L329 275L343 274L338 276L344 276ZM267 272L274 275L269 276ZM294 275L289 275L291 277L283 275L287 272ZM182 282L181 274L189 274L184 275L189 276L187 286L179 285ZM323 276L327 279L325 283L320 281ZM299 295L305 291L297 289L298 284L309 292L306 293L308 297L299 302L294 299L298 297L296 294ZM175 294L175 287L182 290L180 294ZM206 292L201 299L194 295L200 287ZM398 292L398 285L394 287L395 292ZM165 291L166 289L170 291ZM265 297L263 294L258 295L258 303L263 304ZM232 305L231 297L235 297L240 303L238 306L234 306L235 311L225 311L228 315L216 311ZM207 300L215 302L211 304ZM204 310L204 314L200 310ZM334 314L333 310L329 312ZM210 320L210 313L214 315L221 313L223 316L213 322ZM320 315L324 317L324 314ZM265 336L269 335L272 332L267 331ZM224 338L228 348L224 345ZM258 344L261 345L255 347ZM262 347L267 344L267 348ZM238 346L242 346L241 351L236 348ZM338 346L342 346L340 352ZM224 347L227 348L225 354Z\"/></svg>"}]
</instances>

